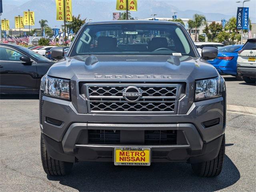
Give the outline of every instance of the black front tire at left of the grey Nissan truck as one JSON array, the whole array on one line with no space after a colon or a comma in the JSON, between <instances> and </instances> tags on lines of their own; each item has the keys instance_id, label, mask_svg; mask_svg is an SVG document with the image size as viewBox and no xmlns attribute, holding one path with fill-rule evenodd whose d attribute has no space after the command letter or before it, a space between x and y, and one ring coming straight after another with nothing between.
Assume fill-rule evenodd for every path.
<instances>
[{"instance_id":1,"label":"black front tire at left of the grey Nissan truck","mask_svg":"<svg viewBox=\"0 0 256 192\"><path fill-rule=\"evenodd\" d=\"M71 172L73 163L52 159L46 151L44 137L41 133L41 159L44 172L48 175L62 176Z\"/></svg>"}]
</instances>

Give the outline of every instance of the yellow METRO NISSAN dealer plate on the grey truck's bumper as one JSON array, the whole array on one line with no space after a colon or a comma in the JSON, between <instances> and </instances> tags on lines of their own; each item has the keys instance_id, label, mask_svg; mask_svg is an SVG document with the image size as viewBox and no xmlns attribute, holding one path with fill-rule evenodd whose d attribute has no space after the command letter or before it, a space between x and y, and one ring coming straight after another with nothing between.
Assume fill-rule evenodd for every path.
<instances>
[{"instance_id":1,"label":"yellow METRO NISSAN dealer plate on the grey truck's bumper","mask_svg":"<svg viewBox=\"0 0 256 192\"><path fill-rule=\"evenodd\" d=\"M115 147L114 165L150 166L150 148Z\"/></svg>"}]
</instances>

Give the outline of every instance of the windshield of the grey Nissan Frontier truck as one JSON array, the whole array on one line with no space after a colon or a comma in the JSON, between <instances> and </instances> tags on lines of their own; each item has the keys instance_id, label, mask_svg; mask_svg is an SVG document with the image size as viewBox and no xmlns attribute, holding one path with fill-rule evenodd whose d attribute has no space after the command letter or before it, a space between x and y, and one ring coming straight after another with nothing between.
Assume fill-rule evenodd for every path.
<instances>
[{"instance_id":1,"label":"windshield of the grey Nissan Frontier truck","mask_svg":"<svg viewBox=\"0 0 256 192\"><path fill-rule=\"evenodd\" d=\"M91 24L84 28L75 55L186 55L195 57L184 30L173 24Z\"/></svg>"}]
</instances>

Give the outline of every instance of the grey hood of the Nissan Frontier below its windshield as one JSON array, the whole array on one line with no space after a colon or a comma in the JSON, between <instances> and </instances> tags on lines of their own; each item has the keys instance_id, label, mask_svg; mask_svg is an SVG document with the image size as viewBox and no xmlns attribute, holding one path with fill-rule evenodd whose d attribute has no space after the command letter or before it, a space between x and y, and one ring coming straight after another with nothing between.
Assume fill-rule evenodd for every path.
<instances>
[{"instance_id":1,"label":"grey hood of the Nissan Frontier below its windshield","mask_svg":"<svg viewBox=\"0 0 256 192\"><path fill-rule=\"evenodd\" d=\"M70 79L74 75L170 75L194 79L218 76L216 69L201 58L170 55L83 55L65 57L48 71L49 76Z\"/></svg>"}]
</instances>

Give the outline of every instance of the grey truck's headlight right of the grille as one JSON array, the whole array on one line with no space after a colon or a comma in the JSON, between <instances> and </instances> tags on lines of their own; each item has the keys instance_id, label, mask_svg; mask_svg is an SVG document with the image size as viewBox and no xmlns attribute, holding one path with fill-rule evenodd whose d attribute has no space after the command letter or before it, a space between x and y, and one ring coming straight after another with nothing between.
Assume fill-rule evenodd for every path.
<instances>
[{"instance_id":1,"label":"grey truck's headlight right of the grille","mask_svg":"<svg viewBox=\"0 0 256 192\"><path fill-rule=\"evenodd\" d=\"M197 80L195 101L220 97L220 77Z\"/></svg>"}]
</instances>

